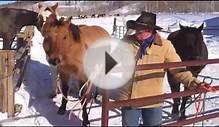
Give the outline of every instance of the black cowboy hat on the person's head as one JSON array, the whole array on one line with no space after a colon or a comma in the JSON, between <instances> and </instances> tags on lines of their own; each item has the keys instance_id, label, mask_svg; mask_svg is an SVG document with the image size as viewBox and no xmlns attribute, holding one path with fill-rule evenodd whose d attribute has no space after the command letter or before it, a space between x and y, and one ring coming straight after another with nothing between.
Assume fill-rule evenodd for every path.
<instances>
[{"instance_id":1,"label":"black cowboy hat on the person's head","mask_svg":"<svg viewBox=\"0 0 219 127\"><path fill-rule=\"evenodd\" d=\"M128 20L126 22L127 29L133 30L142 30L142 29L152 29L152 30L161 30L163 29L160 26L156 26L156 14L151 12L142 11L141 15L137 18L136 21Z\"/></svg>"}]
</instances>

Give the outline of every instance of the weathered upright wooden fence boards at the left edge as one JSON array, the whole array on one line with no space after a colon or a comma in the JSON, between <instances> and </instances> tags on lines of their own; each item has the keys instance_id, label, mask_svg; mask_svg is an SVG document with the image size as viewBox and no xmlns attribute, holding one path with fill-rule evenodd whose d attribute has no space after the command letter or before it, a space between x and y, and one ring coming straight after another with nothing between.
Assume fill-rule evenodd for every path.
<instances>
[{"instance_id":1,"label":"weathered upright wooden fence boards at the left edge","mask_svg":"<svg viewBox=\"0 0 219 127\"><path fill-rule=\"evenodd\" d=\"M0 112L14 116L13 68L15 65L13 50L0 51Z\"/></svg>"}]
</instances>

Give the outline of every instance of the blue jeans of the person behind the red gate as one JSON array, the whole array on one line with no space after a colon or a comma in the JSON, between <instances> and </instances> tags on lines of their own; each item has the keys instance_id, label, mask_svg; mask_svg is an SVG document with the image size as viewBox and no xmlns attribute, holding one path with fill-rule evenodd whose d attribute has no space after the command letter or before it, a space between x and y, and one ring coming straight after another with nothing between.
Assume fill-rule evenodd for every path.
<instances>
[{"instance_id":1,"label":"blue jeans of the person behind the red gate","mask_svg":"<svg viewBox=\"0 0 219 127\"><path fill-rule=\"evenodd\" d=\"M140 117L143 126L161 126L162 108L122 108L122 126L139 126Z\"/></svg>"}]
</instances>

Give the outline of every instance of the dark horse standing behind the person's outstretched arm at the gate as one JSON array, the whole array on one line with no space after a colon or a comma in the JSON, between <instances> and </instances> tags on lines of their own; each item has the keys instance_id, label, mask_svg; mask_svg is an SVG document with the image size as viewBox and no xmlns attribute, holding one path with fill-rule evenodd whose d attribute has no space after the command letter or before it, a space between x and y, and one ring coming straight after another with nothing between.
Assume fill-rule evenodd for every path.
<instances>
[{"instance_id":1,"label":"dark horse standing behind the person's outstretched arm at the gate","mask_svg":"<svg viewBox=\"0 0 219 127\"><path fill-rule=\"evenodd\" d=\"M180 25L180 30L175 31L168 36L167 39L172 42L173 46L176 49L176 52L179 54L182 61L208 59L208 51L203 41L203 35L201 32L202 29L203 24L198 28L185 27ZM193 76L197 77L204 67L205 65L187 67L187 69L192 72ZM171 91L179 92L180 84L175 82L173 76L170 73L167 73L167 77L171 87ZM187 88L185 88L185 90L186 89ZM180 98L173 99L174 104L172 113L179 116L180 119L186 118L185 106L188 99L188 96L182 98L180 111L178 109L180 105Z\"/></svg>"}]
</instances>

